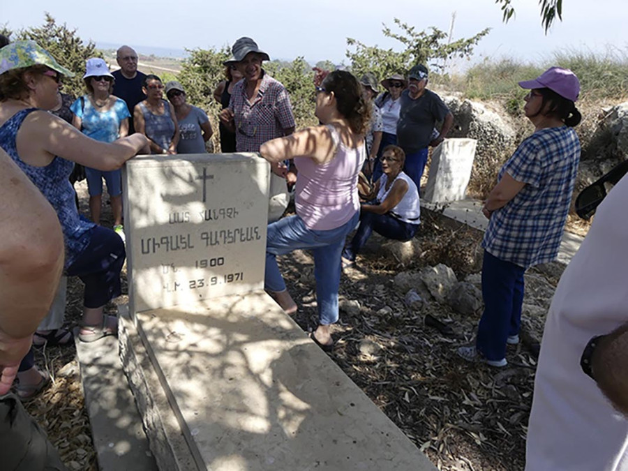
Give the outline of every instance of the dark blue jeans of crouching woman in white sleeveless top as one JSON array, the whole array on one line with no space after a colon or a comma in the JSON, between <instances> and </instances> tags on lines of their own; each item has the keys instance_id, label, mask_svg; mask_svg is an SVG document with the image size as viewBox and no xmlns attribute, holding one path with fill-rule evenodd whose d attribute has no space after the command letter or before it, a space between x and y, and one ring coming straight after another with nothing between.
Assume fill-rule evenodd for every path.
<instances>
[{"instance_id":1,"label":"dark blue jeans of crouching woman in white sleeveless top","mask_svg":"<svg viewBox=\"0 0 628 471\"><path fill-rule=\"evenodd\" d=\"M419 229L419 224L405 223L394 218L390 214L375 214L368 211L360 211L360 227L351 239L350 244L343 250L343 257L347 260L355 260L373 231L387 239L396 241L408 241L414 237Z\"/></svg>"}]
</instances>

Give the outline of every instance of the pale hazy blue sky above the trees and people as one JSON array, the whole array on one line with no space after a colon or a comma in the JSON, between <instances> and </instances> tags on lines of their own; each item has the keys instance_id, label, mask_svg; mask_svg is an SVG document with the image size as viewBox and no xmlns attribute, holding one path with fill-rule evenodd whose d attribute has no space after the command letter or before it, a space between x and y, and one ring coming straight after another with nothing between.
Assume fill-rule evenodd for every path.
<instances>
[{"instance_id":1,"label":"pale hazy blue sky above the trees and people","mask_svg":"<svg viewBox=\"0 0 628 471\"><path fill-rule=\"evenodd\" d=\"M474 61L500 57L547 61L557 50L604 53L611 47L623 53L628 46L624 0L565 0L563 22L547 35L541 28L537 0L513 3L516 17L504 25L494 0L30 0L28 6L4 0L0 1L0 22L12 29L36 26L43 23L47 11L58 22L77 28L85 40L128 43L137 50L142 45L221 47L240 36L251 36L271 59L304 56L311 63L343 61L347 37L367 45L398 48L396 40L382 35L382 23L394 27L394 17L419 30L435 26L447 31L454 12L454 39L493 28L481 40ZM456 64L464 66L463 61Z\"/></svg>"}]
</instances>

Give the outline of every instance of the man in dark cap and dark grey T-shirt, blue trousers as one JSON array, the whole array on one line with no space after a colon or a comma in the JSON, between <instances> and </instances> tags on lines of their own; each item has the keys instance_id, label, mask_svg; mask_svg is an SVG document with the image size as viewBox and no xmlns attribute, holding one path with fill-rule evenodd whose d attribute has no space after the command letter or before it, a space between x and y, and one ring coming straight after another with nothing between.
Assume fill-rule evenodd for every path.
<instances>
[{"instance_id":1,"label":"man in dark cap and dark grey T-shirt, blue trousers","mask_svg":"<svg viewBox=\"0 0 628 471\"><path fill-rule=\"evenodd\" d=\"M401 111L397 123L397 144L405 152L403 171L421 188L421 176L428 158L428 146L438 146L449 133L454 115L440 96L426 89L428 70L419 64L410 69L408 89L401 93ZM440 134L433 138L437 122L442 121Z\"/></svg>"}]
</instances>

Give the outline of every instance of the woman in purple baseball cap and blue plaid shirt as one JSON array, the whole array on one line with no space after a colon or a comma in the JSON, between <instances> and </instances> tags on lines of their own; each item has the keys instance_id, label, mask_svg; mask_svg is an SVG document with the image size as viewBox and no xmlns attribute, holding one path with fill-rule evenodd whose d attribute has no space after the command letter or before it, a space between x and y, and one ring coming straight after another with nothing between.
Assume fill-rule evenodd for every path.
<instances>
[{"instance_id":1,"label":"woman in purple baseball cap and blue plaid shirt","mask_svg":"<svg viewBox=\"0 0 628 471\"><path fill-rule=\"evenodd\" d=\"M580 160L578 77L552 67L519 86L530 90L523 112L534 133L504 164L484 202L484 313L475 344L458 348L466 360L497 367L507 365L507 345L519 341L525 270L558 255Z\"/></svg>"}]
</instances>

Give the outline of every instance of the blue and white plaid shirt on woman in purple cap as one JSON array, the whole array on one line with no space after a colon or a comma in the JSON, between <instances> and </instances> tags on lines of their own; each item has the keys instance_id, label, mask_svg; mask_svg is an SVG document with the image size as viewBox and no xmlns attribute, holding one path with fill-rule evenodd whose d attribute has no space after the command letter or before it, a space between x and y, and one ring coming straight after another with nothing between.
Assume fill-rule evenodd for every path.
<instances>
[{"instance_id":1,"label":"blue and white plaid shirt on woman in purple cap","mask_svg":"<svg viewBox=\"0 0 628 471\"><path fill-rule=\"evenodd\" d=\"M580 141L567 126L541 129L525 139L504 164L526 185L491 215L482 247L520 267L551 262L558 255L562 231L580 161Z\"/></svg>"}]
</instances>

